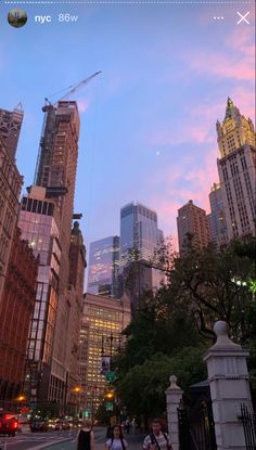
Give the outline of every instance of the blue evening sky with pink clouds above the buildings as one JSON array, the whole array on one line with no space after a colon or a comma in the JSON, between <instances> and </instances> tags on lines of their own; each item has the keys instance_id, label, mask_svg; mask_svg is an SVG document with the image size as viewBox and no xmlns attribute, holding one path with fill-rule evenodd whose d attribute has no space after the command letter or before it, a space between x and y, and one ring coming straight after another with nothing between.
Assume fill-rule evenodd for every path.
<instances>
[{"instance_id":1,"label":"blue evening sky with pink clouds above the buildings","mask_svg":"<svg viewBox=\"0 0 256 450\"><path fill-rule=\"evenodd\" d=\"M89 243L119 234L120 207L138 201L177 242L177 210L209 211L218 182L216 120L227 98L254 119L253 2L236 4L25 5L7 22L0 5L0 107L24 107L16 162L24 192L34 180L44 98L97 70L74 98L81 118L75 211ZM249 11L249 24L238 11ZM60 13L78 15L60 23ZM52 22L35 23L51 14ZM223 16L223 20L214 20Z\"/></svg>"}]
</instances>

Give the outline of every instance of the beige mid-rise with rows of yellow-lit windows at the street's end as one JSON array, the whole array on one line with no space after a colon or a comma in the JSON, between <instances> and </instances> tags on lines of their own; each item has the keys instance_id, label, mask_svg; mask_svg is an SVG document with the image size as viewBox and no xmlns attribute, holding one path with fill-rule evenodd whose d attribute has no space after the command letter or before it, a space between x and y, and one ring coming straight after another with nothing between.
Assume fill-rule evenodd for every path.
<instances>
[{"instance_id":1,"label":"beige mid-rise with rows of yellow-lit windows at the street's end","mask_svg":"<svg viewBox=\"0 0 256 450\"><path fill-rule=\"evenodd\" d=\"M130 301L85 294L80 332L79 408L94 416L108 383L102 374L102 356L113 356L123 343L121 331L130 322Z\"/></svg>"}]
</instances>

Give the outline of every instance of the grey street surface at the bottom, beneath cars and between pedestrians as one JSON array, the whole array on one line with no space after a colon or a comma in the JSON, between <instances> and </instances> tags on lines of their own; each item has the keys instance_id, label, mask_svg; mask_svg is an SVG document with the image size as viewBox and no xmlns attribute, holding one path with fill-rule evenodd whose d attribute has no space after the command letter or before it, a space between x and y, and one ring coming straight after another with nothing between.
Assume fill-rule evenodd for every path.
<instances>
[{"instance_id":1,"label":"grey street surface at the bottom, beneath cars and between pedestrians","mask_svg":"<svg viewBox=\"0 0 256 450\"><path fill-rule=\"evenodd\" d=\"M15 437L0 436L0 450L76 450L77 430L48 432L48 433L21 433ZM95 450L103 450L106 429L97 427ZM143 436L126 436L129 450L141 450Z\"/></svg>"}]
</instances>

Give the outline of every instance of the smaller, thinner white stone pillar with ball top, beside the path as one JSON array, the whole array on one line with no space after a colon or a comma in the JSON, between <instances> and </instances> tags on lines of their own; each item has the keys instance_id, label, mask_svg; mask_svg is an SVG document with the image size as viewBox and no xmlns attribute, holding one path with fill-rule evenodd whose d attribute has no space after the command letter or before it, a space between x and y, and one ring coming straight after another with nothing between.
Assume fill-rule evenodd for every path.
<instances>
[{"instance_id":1,"label":"smaller, thinner white stone pillar with ball top, beside the path","mask_svg":"<svg viewBox=\"0 0 256 450\"><path fill-rule=\"evenodd\" d=\"M170 386L166 390L168 434L174 450L179 450L179 421L177 409L180 406L183 390L177 386L177 377L169 377Z\"/></svg>"}]
</instances>

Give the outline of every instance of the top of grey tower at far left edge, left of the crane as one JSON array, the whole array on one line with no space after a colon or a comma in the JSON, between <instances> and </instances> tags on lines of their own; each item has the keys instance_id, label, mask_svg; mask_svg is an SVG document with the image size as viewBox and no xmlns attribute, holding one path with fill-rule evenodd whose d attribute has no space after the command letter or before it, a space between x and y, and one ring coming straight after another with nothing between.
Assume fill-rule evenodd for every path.
<instances>
[{"instance_id":1,"label":"top of grey tower at far left edge, left of the crane","mask_svg":"<svg viewBox=\"0 0 256 450\"><path fill-rule=\"evenodd\" d=\"M18 104L13 111L0 108L0 134L10 156L15 159L18 137L23 123L23 108Z\"/></svg>"}]
</instances>

